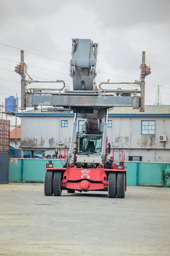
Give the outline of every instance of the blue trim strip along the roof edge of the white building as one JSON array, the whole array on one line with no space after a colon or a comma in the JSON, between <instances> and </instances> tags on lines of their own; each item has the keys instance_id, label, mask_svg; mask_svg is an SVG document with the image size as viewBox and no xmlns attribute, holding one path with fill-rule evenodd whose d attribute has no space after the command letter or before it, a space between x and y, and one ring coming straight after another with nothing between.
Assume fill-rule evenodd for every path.
<instances>
[{"instance_id":1,"label":"blue trim strip along the roof edge of the white building","mask_svg":"<svg viewBox=\"0 0 170 256\"><path fill-rule=\"evenodd\" d=\"M64 114L64 113L57 113L57 114L31 114L31 113L17 113L16 114L17 117L21 117L21 116L74 116L74 114ZM78 116L80 116L78 114ZM142 116L169 116L170 117L170 113L169 114L108 114L108 116L137 116L137 117L142 117Z\"/></svg>"}]
</instances>

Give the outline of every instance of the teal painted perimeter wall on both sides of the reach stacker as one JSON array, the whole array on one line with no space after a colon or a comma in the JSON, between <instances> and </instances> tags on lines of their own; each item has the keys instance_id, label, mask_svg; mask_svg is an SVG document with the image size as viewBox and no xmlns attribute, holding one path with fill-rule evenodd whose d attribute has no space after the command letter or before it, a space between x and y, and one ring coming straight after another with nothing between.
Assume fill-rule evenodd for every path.
<instances>
[{"instance_id":1,"label":"teal painted perimeter wall on both sides of the reach stacker","mask_svg":"<svg viewBox=\"0 0 170 256\"><path fill-rule=\"evenodd\" d=\"M58 159L52 159L55 168L62 167ZM48 159L18 159L11 164L9 159L9 181L44 182ZM167 186L170 187L170 163L125 162L127 166L127 185L129 186Z\"/></svg>"}]
</instances>

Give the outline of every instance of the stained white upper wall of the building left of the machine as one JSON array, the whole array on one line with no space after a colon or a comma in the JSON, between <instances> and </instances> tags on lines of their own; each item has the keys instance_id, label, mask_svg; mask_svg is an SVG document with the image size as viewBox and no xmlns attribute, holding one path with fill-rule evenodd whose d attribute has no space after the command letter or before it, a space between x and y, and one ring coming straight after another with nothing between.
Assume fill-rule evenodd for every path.
<instances>
[{"instance_id":1,"label":"stained white upper wall of the building left of the machine","mask_svg":"<svg viewBox=\"0 0 170 256\"><path fill-rule=\"evenodd\" d=\"M57 127L59 120L59 147L69 148L74 117L21 117L21 149L45 150L57 148ZM61 120L67 120L67 127L61 127ZM80 117L78 120L82 120ZM77 125L78 130L78 125Z\"/></svg>"}]
</instances>

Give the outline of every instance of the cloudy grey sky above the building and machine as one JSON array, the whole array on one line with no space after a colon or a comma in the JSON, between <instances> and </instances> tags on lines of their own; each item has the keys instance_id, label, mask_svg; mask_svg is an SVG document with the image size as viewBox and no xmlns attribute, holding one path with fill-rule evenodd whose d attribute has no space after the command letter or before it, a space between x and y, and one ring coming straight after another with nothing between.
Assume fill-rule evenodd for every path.
<instances>
[{"instance_id":1,"label":"cloudy grey sky above the building and machine","mask_svg":"<svg viewBox=\"0 0 170 256\"><path fill-rule=\"evenodd\" d=\"M21 77L13 72L20 62L20 49L28 51L25 62L33 79L61 79L72 88L68 64L72 38L91 38L99 43L97 84L107 79L139 79L142 51L146 51L146 64L152 73L146 77L145 104L154 104L157 85L162 103L169 104L169 11L169 0L1 1L0 104L8 95L21 95Z\"/></svg>"}]
</instances>

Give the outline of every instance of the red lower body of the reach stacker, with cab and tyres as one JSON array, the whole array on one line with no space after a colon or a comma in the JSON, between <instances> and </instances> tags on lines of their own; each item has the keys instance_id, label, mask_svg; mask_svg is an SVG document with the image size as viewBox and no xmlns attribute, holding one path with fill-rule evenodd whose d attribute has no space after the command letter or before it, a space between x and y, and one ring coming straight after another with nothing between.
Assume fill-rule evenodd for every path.
<instances>
[{"instance_id":1,"label":"red lower body of the reach stacker, with cab and tyres","mask_svg":"<svg viewBox=\"0 0 170 256\"><path fill-rule=\"evenodd\" d=\"M49 163L45 165L47 170L45 195L61 196L62 190L67 190L67 193L108 191L109 198L116 196L124 198L126 191L125 152L114 150L113 156L107 159L111 150L106 138L105 158L102 159L102 139L103 135L77 133L73 162L68 162L68 156L65 156L66 150L60 149L60 156L64 151L65 164L63 168L54 168L52 161L49 160ZM118 155L119 159L115 159L115 155ZM101 159L102 163L100 163Z\"/></svg>"}]
</instances>

